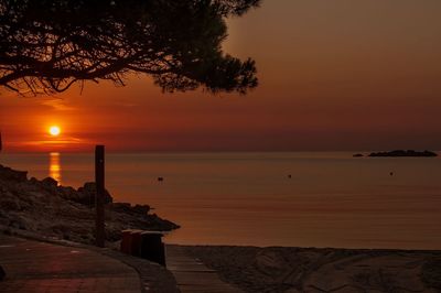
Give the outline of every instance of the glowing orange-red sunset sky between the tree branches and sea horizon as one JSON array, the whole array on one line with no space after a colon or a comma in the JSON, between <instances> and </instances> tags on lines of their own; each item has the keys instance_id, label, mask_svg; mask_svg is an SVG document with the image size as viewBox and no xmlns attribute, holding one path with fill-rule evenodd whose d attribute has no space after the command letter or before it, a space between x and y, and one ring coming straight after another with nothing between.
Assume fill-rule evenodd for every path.
<instances>
[{"instance_id":1,"label":"glowing orange-red sunset sky between the tree branches and sea horizon","mask_svg":"<svg viewBox=\"0 0 441 293\"><path fill-rule=\"evenodd\" d=\"M441 150L440 11L439 0L263 0L228 20L224 44L257 62L248 95L163 94L148 76L51 97L1 89L3 149Z\"/></svg>"}]
</instances>

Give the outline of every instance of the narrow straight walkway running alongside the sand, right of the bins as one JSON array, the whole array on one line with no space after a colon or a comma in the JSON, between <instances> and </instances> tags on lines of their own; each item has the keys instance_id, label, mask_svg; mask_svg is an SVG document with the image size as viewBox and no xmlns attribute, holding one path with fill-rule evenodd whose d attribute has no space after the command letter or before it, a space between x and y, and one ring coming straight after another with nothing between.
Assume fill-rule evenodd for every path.
<instances>
[{"instance_id":1,"label":"narrow straight walkway running alongside the sand, right of the bins","mask_svg":"<svg viewBox=\"0 0 441 293\"><path fill-rule=\"evenodd\" d=\"M201 261L190 257L182 247L166 247L166 269L178 282L182 293L239 293L233 285L223 282L216 271L208 269Z\"/></svg>"}]
</instances>

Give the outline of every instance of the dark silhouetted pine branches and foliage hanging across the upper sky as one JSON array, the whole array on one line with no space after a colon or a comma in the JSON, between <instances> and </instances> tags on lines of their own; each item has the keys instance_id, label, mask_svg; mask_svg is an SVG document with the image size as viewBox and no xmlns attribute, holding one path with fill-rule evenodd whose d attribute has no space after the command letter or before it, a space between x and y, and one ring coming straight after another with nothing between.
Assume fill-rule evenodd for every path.
<instances>
[{"instance_id":1,"label":"dark silhouetted pine branches and foliage hanging across the upper sky","mask_svg":"<svg viewBox=\"0 0 441 293\"><path fill-rule=\"evenodd\" d=\"M130 73L166 91L203 87L245 94L252 59L222 51L225 19L259 0L0 0L0 85L60 93L73 84Z\"/></svg>"}]
</instances>

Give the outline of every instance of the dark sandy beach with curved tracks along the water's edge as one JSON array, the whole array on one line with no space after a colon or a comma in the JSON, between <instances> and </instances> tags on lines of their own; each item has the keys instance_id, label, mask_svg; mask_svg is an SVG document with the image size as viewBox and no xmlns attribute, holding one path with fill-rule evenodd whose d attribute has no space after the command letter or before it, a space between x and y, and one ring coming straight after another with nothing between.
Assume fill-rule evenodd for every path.
<instances>
[{"instance_id":1,"label":"dark sandy beach with curved tracks along the water's edge","mask_svg":"<svg viewBox=\"0 0 441 293\"><path fill-rule=\"evenodd\" d=\"M441 251L185 247L245 292L441 292Z\"/></svg>"}]
</instances>

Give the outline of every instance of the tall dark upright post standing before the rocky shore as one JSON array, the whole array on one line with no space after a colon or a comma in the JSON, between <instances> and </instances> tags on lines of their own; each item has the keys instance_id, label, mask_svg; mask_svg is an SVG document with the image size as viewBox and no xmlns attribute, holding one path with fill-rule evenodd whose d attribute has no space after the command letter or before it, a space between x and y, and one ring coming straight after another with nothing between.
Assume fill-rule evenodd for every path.
<instances>
[{"instance_id":1,"label":"tall dark upright post standing before the rocky shore","mask_svg":"<svg viewBox=\"0 0 441 293\"><path fill-rule=\"evenodd\" d=\"M96 145L95 148L95 183L96 183L96 246L104 247L105 246L105 224L104 224L104 145Z\"/></svg>"}]
</instances>

